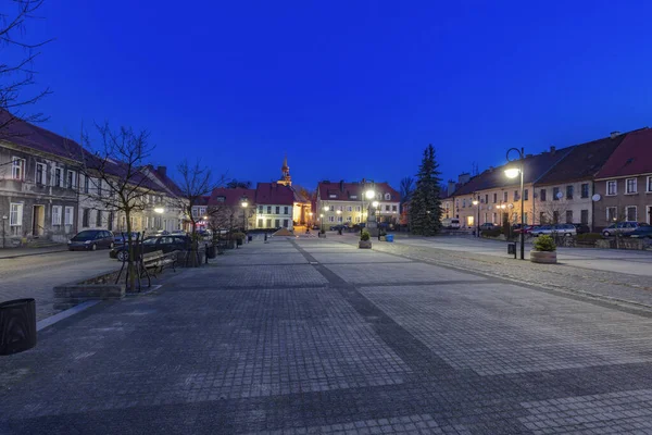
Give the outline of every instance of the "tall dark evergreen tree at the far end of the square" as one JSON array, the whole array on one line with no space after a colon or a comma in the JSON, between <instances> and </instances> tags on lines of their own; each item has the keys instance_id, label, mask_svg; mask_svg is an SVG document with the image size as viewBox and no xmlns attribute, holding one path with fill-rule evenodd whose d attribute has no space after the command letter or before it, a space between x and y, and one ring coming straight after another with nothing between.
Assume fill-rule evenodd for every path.
<instances>
[{"instance_id":1,"label":"tall dark evergreen tree at the far end of the square","mask_svg":"<svg viewBox=\"0 0 652 435\"><path fill-rule=\"evenodd\" d=\"M410 202L410 228L413 234L432 236L441 228L441 174L432 145L424 150L416 188Z\"/></svg>"}]
</instances>

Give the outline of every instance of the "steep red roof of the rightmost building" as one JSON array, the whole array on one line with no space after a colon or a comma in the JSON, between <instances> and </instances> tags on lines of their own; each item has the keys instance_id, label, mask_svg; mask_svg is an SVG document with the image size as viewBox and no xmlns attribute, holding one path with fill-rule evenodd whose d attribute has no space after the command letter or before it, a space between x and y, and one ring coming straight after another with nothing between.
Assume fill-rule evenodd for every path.
<instances>
[{"instance_id":1,"label":"steep red roof of the rightmost building","mask_svg":"<svg viewBox=\"0 0 652 435\"><path fill-rule=\"evenodd\" d=\"M652 129L643 128L627 135L598 171L595 178L650 173L652 173Z\"/></svg>"}]
</instances>

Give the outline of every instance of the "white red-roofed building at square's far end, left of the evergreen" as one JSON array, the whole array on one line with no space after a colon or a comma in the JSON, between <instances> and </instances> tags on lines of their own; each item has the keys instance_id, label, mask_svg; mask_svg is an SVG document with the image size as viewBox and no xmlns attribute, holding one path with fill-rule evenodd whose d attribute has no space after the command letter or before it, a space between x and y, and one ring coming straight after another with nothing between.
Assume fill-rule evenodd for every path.
<instances>
[{"instance_id":1,"label":"white red-roofed building at square's far end, left of the evergreen","mask_svg":"<svg viewBox=\"0 0 652 435\"><path fill-rule=\"evenodd\" d=\"M373 198L366 191L374 192ZM368 208L377 202L376 216L379 223L398 224L400 221L401 196L387 183L362 182L330 183L317 185L317 210L319 222L329 224L360 224L367 220Z\"/></svg>"}]
</instances>

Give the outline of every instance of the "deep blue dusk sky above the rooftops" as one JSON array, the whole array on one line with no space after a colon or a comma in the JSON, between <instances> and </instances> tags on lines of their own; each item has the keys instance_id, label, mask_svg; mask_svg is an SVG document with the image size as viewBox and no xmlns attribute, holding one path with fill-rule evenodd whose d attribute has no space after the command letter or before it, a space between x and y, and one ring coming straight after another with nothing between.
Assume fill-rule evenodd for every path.
<instances>
[{"instance_id":1,"label":"deep blue dusk sky above the rooftops","mask_svg":"<svg viewBox=\"0 0 652 435\"><path fill-rule=\"evenodd\" d=\"M444 179L651 125L652 3L54 1L42 126L151 130L154 164L238 179Z\"/></svg>"}]
</instances>

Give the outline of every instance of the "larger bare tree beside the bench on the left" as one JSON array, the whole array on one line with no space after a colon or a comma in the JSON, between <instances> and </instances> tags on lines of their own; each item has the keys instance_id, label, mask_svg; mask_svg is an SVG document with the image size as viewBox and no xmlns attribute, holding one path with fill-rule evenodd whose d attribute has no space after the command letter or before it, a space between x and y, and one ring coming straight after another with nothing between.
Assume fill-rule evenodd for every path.
<instances>
[{"instance_id":1,"label":"larger bare tree beside the bench on the left","mask_svg":"<svg viewBox=\"0 0 652 435\"><path fill-rule=\"evenodd\" d=\"M90 208L109 211L125 219L127 231L127 288L135 291L137 268L133 233L133 217L146 210L149 203L155 204L161 192L153 189L152 182L145 173L146 161L153 146L149 144L149 133L135 132L130 127L112 130L108 124L96 125L99 133L99 147L92 147L88 134L83 141L88 152L82 150L76 160L80 162L79 173L88 179L80 189L80 202L86 200ZM86 183L86 182L85 182Z\"/></svg>"}]
</instances>

